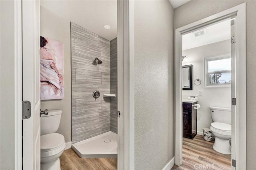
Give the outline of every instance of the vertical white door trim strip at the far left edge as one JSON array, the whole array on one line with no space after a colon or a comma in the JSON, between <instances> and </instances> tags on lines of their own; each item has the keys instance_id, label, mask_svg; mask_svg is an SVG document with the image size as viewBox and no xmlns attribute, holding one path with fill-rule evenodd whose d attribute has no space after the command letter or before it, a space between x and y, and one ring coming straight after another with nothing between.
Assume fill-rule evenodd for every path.
<instances>
[{"instance_id":1,"label":"vertical white door trim strip at the far left edge","mask_svg":"<svg viewBox=\"0 0 256 170\"><path fill-rule=\"evenodd\" d=\"M22 169L22 5L14 1L15 169Z\"/></svg>"}]
</instances>

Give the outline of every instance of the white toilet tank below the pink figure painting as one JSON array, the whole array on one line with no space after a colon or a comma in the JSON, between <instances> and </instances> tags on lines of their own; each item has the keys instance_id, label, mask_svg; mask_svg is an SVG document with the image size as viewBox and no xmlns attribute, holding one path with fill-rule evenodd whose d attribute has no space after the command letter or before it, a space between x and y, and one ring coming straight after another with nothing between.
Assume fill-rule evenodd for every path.
<instances>
[{"instance_id":1,"label":"white toilet tank below the pink figure painting","mask_svg":"<svg viewBox=\"0 0 256 170\"><path fill-rule=\"evenodd\" d=\"M60 125L62 110L50 110L48 115L41 115L41 135L55 133Z\"/></svg>"}]
</instances>

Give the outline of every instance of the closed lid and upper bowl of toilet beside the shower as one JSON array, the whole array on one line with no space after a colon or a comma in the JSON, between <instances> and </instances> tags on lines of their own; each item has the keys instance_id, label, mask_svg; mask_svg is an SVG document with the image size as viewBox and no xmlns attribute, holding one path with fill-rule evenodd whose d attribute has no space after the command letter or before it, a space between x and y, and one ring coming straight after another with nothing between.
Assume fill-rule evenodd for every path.
<instances>
[{"instance_id":1,"label":"closed lid and upper bowl of toilet beside the shower","mask_svg":"<svg viewBox=\"0 0 256 170\"><path fill-rule=\"evenodd\" d=\"M41 158L56 155L66 147L62 134L50 133L41 136Z\"/></svg>"}]
</instances>

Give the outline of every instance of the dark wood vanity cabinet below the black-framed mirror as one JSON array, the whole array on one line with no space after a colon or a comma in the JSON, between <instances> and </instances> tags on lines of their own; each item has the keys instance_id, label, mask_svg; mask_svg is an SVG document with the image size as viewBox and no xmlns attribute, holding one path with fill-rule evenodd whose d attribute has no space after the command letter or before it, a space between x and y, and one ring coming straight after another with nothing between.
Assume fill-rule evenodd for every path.
<instances>
[{"instance_id":1,"label":"dark wood vanity cabinet below the black-framed mirror","mask_svg":"<svg viewBox=\"0 0 256 170\"><path fill-rule=\"evenodd\" d=\"M182 103L183 137L193 139L197 134L196 109L194 103Z\"/></svg>"}]
</instances>

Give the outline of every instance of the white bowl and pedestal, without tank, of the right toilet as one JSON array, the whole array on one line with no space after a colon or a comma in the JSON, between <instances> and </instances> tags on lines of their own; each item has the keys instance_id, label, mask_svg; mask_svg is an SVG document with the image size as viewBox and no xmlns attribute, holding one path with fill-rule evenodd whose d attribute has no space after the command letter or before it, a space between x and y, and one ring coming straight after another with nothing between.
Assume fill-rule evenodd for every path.
<instances>
[{"instance_id":1,"label":"white bowl and pedestal, without tank, of the right toilet","mask_svg":"<svg viewBox=\"0 0 256 170\"><path fill-rule=\"evenodd\" d=\"M214 122L211 124L210 130L215 136L213 148L222 154L231 154L229 141L231 139L231 125L226 123Z\"/></svg>"}]
</instances>

